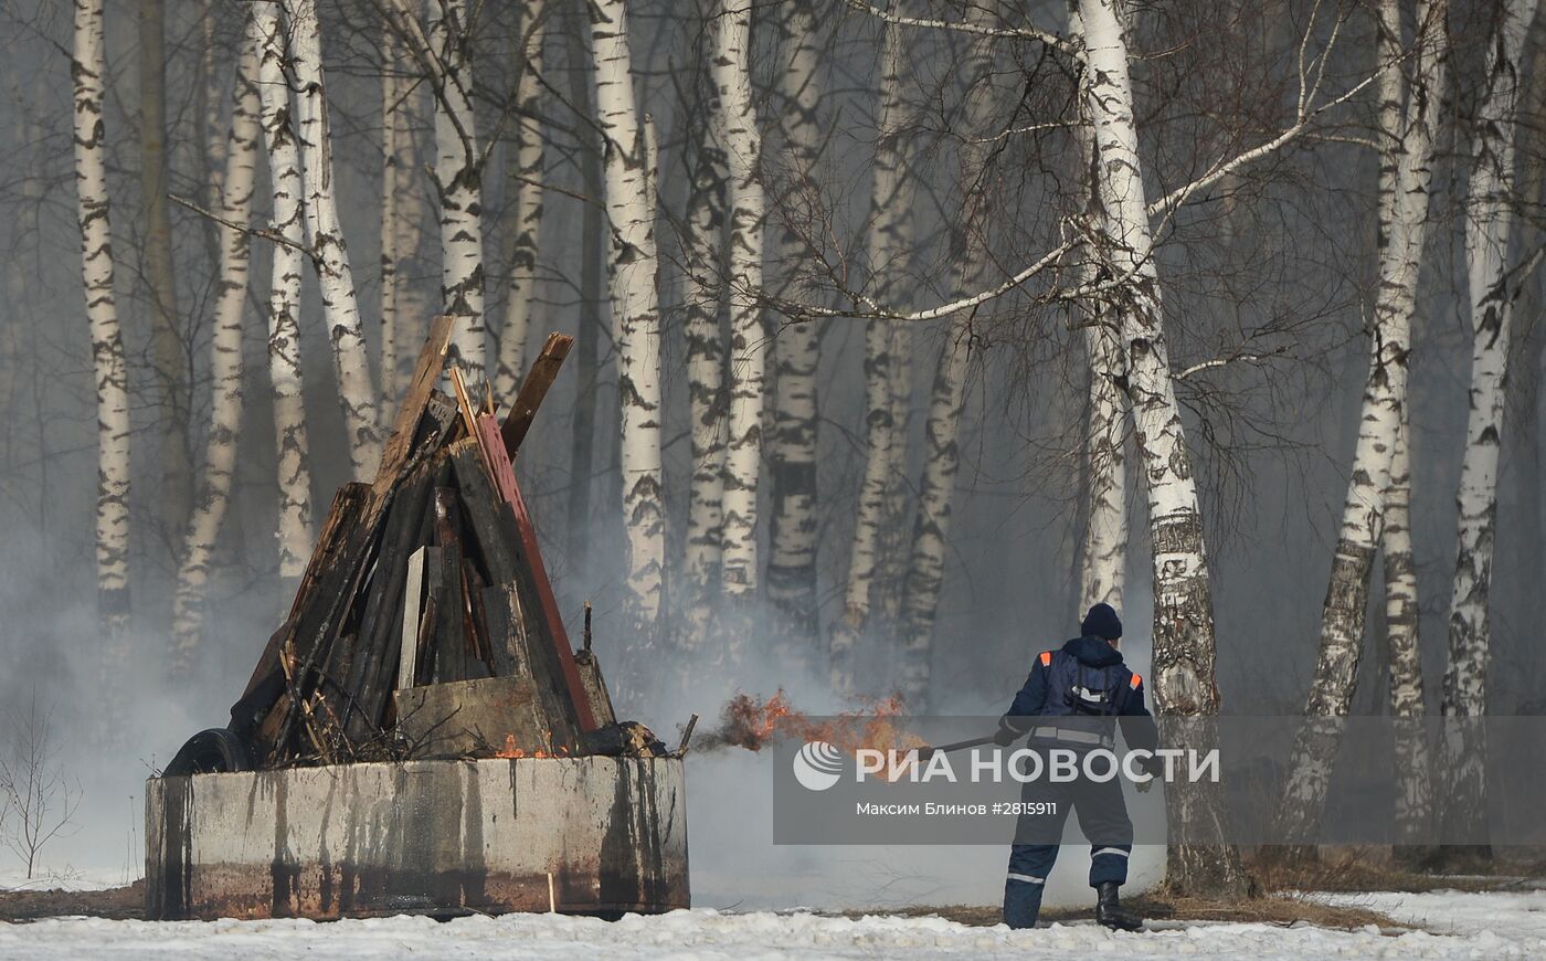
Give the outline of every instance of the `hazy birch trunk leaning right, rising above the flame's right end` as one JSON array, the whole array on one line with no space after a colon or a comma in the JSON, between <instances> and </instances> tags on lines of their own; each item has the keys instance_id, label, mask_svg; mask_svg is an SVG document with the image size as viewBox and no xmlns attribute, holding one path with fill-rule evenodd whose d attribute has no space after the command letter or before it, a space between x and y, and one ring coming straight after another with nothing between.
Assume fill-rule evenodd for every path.
<instances>
[{"instance_id":1,"label":"hazy birch trunk leaning right, rising above the flame's right end","mask_svg":"<svg viewBox=\"0 0 1546 961\"><path fill-rule=\"evenodd\" d=\"M988 28L994 23L996 5L971 6L966 23ZM986 275L986 237L980 218L986 204L983 164L988 150L980 139L994 108L993 45L972 42L962 65L966 77L966 101L962 108L963 139L959 166L962 214L951 226L951 262L955 265L957 299L982 285ZM934 661L934 622L940 593L945 587L945 551L949 545L951 498L955 474L960 470L962 407L966 399L966 371L971 351L971 320L974 311L957 311L949 317L940 348L934 385L929 392L929 419L923 429L923 477L914 508L912 548L903 580L900 630L901 650L897 658L897 690L914 713L928 710L929 681Z\"/></svg>"}]
</instances>

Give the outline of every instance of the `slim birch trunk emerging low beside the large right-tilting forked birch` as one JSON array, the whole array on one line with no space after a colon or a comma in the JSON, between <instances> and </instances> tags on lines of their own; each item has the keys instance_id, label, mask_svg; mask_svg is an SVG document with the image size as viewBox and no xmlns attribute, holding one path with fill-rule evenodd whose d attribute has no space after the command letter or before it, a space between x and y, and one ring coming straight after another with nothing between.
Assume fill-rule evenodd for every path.
<instances>
[{"instance_id":1,"label":"slim birch trunk emerging low beside the large right-tilting forked birch","mask_svg":"<svg viewBox=\"0 0 1546 961\"><path fill-rule=\"evenodd\" d=\"M1422 647L1418 644L1418 565L1411 552L1411 447L1407 410L1385 492L1385 647L1390 651L1390 716L1396 724L1396 840L1418 843L1432 828L1432 769L1422 699Z\"/></svg>"}]
</instances>

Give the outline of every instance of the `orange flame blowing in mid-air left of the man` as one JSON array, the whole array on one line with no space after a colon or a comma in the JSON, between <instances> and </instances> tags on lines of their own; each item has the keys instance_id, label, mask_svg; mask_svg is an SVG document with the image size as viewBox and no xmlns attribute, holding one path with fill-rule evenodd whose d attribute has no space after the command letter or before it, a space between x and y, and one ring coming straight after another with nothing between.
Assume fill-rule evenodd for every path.
<instances>
[{"instance_id":1,"label":"orange flame blowing in mid-air left of the man","mask_svg":"<svg viewBox=\"0 0 1546 961\"><path fill-rule=\"evenodd\" d=\"M739 693L725 704L719 730L707 738L707 746L762 751L778 738L796 738L827 741L849 754L863 747L898 752L923 747L923 738L908 730L901 721L906 715L908 706L900 695L860 698L858 709L816 721L798 710L782 687L765 701Z\"/></svg>"}]
</instances>

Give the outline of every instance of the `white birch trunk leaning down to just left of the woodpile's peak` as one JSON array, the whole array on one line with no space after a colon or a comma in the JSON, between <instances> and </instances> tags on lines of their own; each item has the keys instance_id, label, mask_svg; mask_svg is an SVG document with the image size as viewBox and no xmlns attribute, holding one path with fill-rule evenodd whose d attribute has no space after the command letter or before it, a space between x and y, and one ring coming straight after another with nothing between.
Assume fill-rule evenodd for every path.
<instances>
[{"instance_id":1,"label":"white birch trunk leaning down to just left of the woodpile's peak","mask_svg":"<svg viewBox=\"0 0 1546 961\"><path fill-rule=\"evenodd\" d=\"M371 362L354 294L354 271L339 221L332 181L332 133L322 71L322 23L317 0L283 0L289 68L295 90L295 135L305 175L306 243L322 285L322 308L332 342L339 401L349 432L354 480L369 480L380 463L380 424Z\"/></svg>"}]
</instances>

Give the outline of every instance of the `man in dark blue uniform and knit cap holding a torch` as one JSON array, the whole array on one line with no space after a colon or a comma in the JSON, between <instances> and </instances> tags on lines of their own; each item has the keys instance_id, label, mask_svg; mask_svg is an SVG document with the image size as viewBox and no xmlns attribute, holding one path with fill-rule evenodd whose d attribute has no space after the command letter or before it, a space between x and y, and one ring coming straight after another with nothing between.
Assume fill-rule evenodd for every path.
<instances>
[{"instance_id":1,"label":"man in dark blue uniform and knit cap holding a torch","mask_svg":"<svg viewBox=\"0 0 1546 961\"><path fill-rule=\"evenodd\" d=\"M1127 670L1118 644L1122 622L1107 604L1096 604L1079 625L1081 636L1061 650L1042 651L1031 676L999 720L994 741L1008 747L1027 734L1044 757L1051 749L1082 755L1095 747L1113 747L1113 718L1122 721L1129 747L1152 751L1153 721L1144 707L1142 678ZM1104 718L1104 720L1102 720ZM1022 800L1054 805L1048 814L1022 814L1010 850L1010 876L1003 885L1003 919L1010 927L1036 927L1042 888L1057 860L1057 842L1068 809L1079 811L1079 828L1090 840L1090 887L1096 890L1095 919L1110 929L1136 930L1142 919L1122 908L1118 888L1127 881L1127 857L1133 850L1133 823L1127 817L1121 778L1079 778L1051 783L1027 781Z\"/></svg>"}]
</instances>

